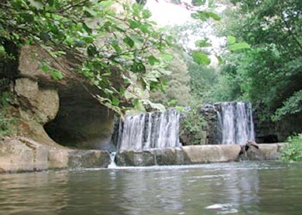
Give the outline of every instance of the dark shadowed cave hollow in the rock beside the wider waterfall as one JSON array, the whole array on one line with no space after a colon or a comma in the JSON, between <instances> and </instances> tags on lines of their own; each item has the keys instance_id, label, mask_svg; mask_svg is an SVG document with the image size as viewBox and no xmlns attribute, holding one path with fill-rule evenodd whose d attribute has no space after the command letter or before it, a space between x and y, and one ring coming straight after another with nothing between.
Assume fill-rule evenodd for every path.
<instances>
[{"instance_id":1,"label":"dark shadowed cave hollow in the rock beside the wider waterfall","mask_svg":"<svg viewBox=\"0 0 302 215\"><path fill-rule=\"evenodd\" d=\"M83 87L59 90L58 114L44 129L53 141L70 148L114 150L114 113Z\"/></svg>"}]
</instances>

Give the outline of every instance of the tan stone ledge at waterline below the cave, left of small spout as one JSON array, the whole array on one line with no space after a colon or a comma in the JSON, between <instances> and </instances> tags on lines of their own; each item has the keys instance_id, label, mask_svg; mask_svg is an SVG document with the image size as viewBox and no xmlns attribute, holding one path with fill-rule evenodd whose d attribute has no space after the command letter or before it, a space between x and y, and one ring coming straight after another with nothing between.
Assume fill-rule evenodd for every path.
<instances>
[{"instance_id":1,"label":"tan stone ledge at waterline below the cave, left of small spout","mask_svg":"<svg viewBox=\"0 0 302 215\"><path fill-rule=\"evenodd\" d=\"M21 137L0 141L0 173L107 167L108 164L110 154L102 150L53 148Z\"/></svg>"}]
</instances>

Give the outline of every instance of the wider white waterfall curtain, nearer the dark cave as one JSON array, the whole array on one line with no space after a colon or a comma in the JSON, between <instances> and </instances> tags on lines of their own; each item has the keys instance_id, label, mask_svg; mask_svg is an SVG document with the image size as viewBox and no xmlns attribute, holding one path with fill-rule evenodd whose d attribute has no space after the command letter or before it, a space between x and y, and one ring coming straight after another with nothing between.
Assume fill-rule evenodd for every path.
<instances>
[{"instance_id":1,"label":"wider white waterfall curtain, nearer the dark cave","mask_svg":"<svg viewBox=\"0 0 302 215\"><path fill-rule=\"evenodd\" d=\"M179 147L179 118L176 110L147 112L119 120L118 150L150 150L150 148Z\"/></svg>"}]
</instances>

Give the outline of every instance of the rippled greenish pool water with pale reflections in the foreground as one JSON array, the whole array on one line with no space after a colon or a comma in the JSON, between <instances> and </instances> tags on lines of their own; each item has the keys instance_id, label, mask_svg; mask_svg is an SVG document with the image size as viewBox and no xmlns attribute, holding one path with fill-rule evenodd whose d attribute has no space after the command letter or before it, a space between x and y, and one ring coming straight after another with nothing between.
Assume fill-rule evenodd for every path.
<instances>
[{"instance_id":1,"label":"rippled greenish pool water with pale reflections in the foreground","mask_svg":"<svg viewBox=\"0 0 302 215\"><path fill-rule=\"evenodd\" d=\"M275 162L0 175L0 214L300 214L301 178Z\"/></svg>"}]
</instances>

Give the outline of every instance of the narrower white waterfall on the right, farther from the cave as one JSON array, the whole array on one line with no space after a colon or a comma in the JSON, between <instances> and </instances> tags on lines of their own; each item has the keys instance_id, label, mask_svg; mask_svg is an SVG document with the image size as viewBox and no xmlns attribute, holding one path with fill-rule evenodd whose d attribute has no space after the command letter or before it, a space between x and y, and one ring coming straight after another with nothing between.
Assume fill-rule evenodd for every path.
<instances>
[{"instance_id":1,"label":"narrower white waterfall on the right, farther from the cave","mask_svg":"<svg viewBox=\"0 0 302 215\"><path fill-rule=\"evenodd\" d=\"M218 122L221 126L222 144L244 145L255 140L251 103L218 103Z\"/></svg>"}]
</instances>

